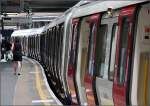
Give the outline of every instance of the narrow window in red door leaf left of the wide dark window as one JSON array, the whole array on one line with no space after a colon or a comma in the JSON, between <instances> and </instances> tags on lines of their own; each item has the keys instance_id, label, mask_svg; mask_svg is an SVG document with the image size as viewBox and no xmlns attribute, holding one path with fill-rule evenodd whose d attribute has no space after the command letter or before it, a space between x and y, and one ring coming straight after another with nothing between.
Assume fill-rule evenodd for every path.
<instances>
[{"instance_id":1,"label":"narrow window in red door leaf left of the wide dark window","mask_svg":"<svg viewBox=\"0 0 150 106\"><path fill-rule=\"evenodd\" d=\"M96 25L91 25L90 35L89 35L89 49L88 49L88 74L93 76L93 69L94 69L94 31Z\"/></svg>"}]
</instances>

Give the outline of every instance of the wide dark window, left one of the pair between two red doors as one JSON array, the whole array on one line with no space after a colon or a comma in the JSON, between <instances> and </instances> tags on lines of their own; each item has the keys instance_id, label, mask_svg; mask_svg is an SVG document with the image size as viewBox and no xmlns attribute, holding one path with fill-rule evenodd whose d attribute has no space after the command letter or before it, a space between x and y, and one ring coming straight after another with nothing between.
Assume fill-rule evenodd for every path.
<instances>
[{"instance_id":1,"label":"wide dark window, left one of the pair between two red doors","mask_svg":"<svg viewBox=\"0 0 150 106\"><path fill-rule=\"evenodd\" d=\"M105 70L105 56L106 56L106 43L107 43L107 30L108 25L102 24L99 28L99 35L97 36L96 44L96 73L98 76L104 76Z\"/></svg>"}]
</instances>

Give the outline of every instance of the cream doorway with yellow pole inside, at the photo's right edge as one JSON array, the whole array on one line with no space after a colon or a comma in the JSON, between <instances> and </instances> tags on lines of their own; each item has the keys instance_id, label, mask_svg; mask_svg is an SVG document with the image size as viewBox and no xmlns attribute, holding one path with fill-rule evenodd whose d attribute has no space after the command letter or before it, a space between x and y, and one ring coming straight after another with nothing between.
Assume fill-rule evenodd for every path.
<instances>
[{"instance_id":1,"label":"cream doorway with yellow pole inside, at the photo's right edge","mask_svg":"<svg viewBox=\"0 0 150 106\"><path fill-rule=\"evenodd\" d=\"M132 105L150 105L150 3L141 6L135 30Z\"/></svg>"}]
</instances>

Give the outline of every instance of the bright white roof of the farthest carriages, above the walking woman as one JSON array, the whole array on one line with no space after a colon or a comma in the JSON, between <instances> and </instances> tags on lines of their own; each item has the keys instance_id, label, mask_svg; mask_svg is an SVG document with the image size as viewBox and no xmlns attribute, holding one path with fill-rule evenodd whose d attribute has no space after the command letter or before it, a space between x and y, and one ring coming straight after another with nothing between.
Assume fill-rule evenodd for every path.
<instances>
[{"instance_id":1,"label":"bright white roof of the farthest carriages, above the walking woman","mask_svg":"<svg viewBox=\"0 0 150 106\"><path fill-rule=\"evenodd\" d=\"M45 27L41 28L32 28L32 29L23 29L23 30L15 30L11 36L30 36L30 35L38 35L44 31Z\"/></svg>"}]
</instances>

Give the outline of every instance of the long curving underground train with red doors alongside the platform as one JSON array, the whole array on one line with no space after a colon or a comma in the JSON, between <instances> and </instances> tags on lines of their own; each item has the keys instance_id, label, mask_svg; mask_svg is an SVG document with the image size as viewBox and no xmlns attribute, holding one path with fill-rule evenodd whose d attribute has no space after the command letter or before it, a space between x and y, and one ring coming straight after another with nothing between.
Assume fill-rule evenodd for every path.
<instances>
[{"instance_id":1,"label":"long curving underground train with red doors alongside the platform","mask_svg":"<svg viewBox=\"0 0 150 106\"><path fill-rule=\"evenodd\" d=\"M149 0L85 2L20 39L63 104L150 105Z\"/></svg>"}]
</instances>

